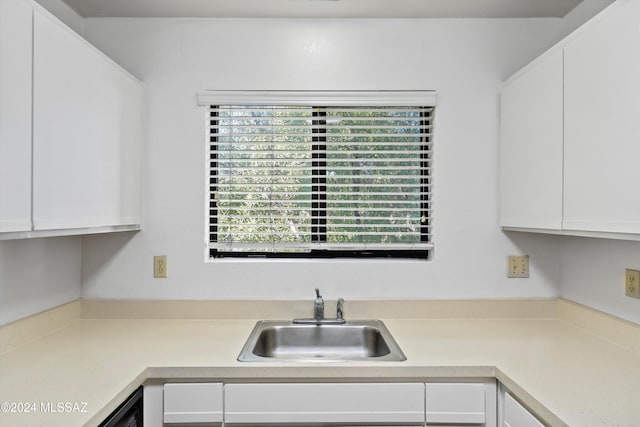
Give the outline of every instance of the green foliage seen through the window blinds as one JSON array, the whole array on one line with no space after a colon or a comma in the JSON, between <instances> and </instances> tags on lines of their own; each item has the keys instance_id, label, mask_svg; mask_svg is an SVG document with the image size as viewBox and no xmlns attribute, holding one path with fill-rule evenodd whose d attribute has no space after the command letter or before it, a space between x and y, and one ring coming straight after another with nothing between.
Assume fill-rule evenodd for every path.
<instances>
[{"instance_id":1,"label":"green foliage seen through the window blinds","mask_svg":"<svg viewBox=\"0 0 640 427\"><path fill-rule=\"evenodd\" d=\"M304 251L297 244L424 241L423 109L217 108L217 242Z\"/></svg>"}]
</instances>

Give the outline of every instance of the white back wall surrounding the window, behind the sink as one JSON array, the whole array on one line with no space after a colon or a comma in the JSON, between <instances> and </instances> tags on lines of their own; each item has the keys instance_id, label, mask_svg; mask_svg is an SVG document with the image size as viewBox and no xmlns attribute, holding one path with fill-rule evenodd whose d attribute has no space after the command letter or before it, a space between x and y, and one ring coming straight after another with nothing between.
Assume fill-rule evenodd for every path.
<instances>
[{"instance_id":1,"label":"white back wall surrounding the window, behind the sink","mask_svg":"<svg viewBox=\"0 0 640 427\"><path fill-rule=\"evenodd\" d=\"M147 90L144 231L83 241L89 298L554 297L560 244L498 227L501 82L558 40L559 19L88 19L90 41ZM204 261L204 89L435 89L435 256ZM506 279L529 254L530 279ZM168 279L152 256L168 256Z\"/></svg>"}]
</instances>

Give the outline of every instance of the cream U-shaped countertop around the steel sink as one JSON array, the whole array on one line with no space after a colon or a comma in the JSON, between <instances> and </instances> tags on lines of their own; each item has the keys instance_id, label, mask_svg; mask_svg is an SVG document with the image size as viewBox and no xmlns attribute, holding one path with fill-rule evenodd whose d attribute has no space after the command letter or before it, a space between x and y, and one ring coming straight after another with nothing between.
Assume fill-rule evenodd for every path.
<instances>
[{"instance_id":1,"label":"cream U-shaped countertop around the steel sink","mask_svg":"<svg viewBox=\"0 0 640 427\"><path fill-rule=\"evenodd\" d=\"M153 378L496 377L551 425L640 426L636 343L563 319L384 318L405 362L237 362L256 320L79 319L0 356L0 402L35 404L30 413L3 408L0 425L96 425ZM42 410L58 402L86 412Z\"/></svg>"}]
</instances>

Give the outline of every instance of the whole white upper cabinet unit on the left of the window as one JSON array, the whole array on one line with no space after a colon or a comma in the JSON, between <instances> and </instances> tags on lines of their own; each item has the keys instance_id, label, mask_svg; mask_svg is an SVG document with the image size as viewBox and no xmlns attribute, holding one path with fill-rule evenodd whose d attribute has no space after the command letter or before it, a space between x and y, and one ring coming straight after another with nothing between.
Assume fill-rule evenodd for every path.
<instances>
[{"instance_id":1,"label":"whole white upper cabinet unit on the left of the window","mask_svg":"<svg viewBox=\"0 0 640 427\"><path fill-rule=\"evenodd\" d=\"M0 239L139 229L141 83L36 3L0 7Z\"/></svg>"}]
</instances>

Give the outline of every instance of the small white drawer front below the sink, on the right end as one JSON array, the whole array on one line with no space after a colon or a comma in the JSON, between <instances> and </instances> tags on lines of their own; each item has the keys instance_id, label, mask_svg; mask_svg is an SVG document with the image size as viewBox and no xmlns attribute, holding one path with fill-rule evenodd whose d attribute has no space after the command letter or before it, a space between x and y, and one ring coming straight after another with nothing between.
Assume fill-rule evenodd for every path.
<instances>
[{"instance_id":1,"label":"small white drawer front below the sink, on the right end","mask_svg":"<svg viewBox=\"0 0 640 427\"><path fill-rule=\"evenodd\" d=\"M426 421L484 425L485 385L478 383L427 383Z\"/></svg>"}]
</instances>

